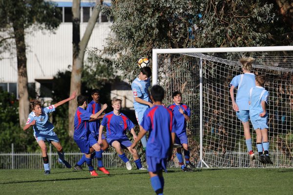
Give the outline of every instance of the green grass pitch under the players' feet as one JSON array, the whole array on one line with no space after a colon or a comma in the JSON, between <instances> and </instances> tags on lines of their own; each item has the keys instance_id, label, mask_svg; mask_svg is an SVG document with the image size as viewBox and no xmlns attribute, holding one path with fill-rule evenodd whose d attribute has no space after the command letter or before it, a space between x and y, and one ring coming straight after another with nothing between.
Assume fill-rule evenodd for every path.
<instances>
[{"instance_id":1,"label":"green grass pitch under the players' feet","mask_svg":"<svg viewBox=\"0 0 293 195\"><path fill-rule=\"evenodd\" d=\"M0 195L155 195L147 171L0 170ZM293 169L168 169L165 195L292 195Z\"/></svg>"}]
</instances>

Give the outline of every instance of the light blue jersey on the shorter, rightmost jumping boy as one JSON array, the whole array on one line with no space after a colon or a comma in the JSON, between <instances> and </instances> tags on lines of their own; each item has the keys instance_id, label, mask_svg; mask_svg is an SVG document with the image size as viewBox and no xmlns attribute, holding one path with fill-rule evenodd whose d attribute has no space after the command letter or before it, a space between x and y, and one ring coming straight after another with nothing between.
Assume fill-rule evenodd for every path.
<instances>
[{"instance_id":1,"label":"light blue jersey on the shorter, rightmost jumping boy","mask_svg":"<svg viewBox=\"0 0 293 195\"><path fill-rule=\"evenodd\" d=\"M265 101L266 103L268 103L269 92L263 87L255 86L251 88L249 96L251 102L249 111L251 121L264 118L259 116L259 114L263 112L261 102ZM267 117L267 115L265 117Z\"/></svg>"}]
</instances>

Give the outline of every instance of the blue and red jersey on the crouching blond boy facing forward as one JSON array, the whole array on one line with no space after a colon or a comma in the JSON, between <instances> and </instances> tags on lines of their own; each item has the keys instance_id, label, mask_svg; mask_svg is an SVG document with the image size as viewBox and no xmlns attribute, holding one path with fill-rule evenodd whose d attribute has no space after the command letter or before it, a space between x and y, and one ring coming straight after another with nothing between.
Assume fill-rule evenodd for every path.
<instances>
[{"instance_id":1,"label":"blue and red jersey on the crouching blond boy facing forward","mask_svg":"<svg viewBox=\"0 0 293 195\"><path fill-rule=\"evenodd\" d=\"M110 112L105 114L101 125L106 127L107 130L107 138L125 138L126 130L130 130L134 128L133 122L129 120L124 114L120 114L119 116L115 115L114 112Z\"/></svg>"}]
</instances>

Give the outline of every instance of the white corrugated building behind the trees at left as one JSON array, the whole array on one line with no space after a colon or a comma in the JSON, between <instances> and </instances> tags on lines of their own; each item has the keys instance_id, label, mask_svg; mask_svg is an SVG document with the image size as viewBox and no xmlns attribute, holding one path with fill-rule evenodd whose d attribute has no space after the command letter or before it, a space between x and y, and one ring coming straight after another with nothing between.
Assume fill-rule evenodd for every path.
<instances>
[{"instance_id":1,"label":"white corrugated building behind the trees at left","mask_svg":"<svg viewBox=\"0 0 293 195\"><path fill-rule=\"evenodd\" d=\"M62 23L55 33L48 31L34 31L26 34L26 57L27 57L27 76L29 87L40 89L41 86L50 88L51 80L58 71L71 70L72 65L72 0L53 0L62 10ZM104 4L110 5L111 0L104 0ZM81 24L80 35L84 34L87 21L91 16L95 0L81 1ZM110 33L110 25L112 22L100 13L99 19L93 29L92 35L87 47L96 47L103 50L105 38ZM85 58L86 59L86 56ZM3 54L0 60L0 87L10 93L14 93L17 97L17 59L16 55ZM115 89L115 94L121 94ZM131 91L122 90L122 97L131 96ZM111 98L113 97L111 95ZM127 99L126 107L132 107L132 98Z\"/></svg>"}]
</instances>

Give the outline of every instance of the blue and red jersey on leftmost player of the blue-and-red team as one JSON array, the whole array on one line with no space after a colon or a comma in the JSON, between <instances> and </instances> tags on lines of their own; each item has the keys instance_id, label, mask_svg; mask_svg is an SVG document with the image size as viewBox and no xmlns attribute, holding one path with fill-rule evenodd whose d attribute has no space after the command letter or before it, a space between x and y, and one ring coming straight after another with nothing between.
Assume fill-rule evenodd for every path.
<instances>
[{"instance_id":1,"label":"blue and red jersey on leftmost player of the blue-and-red team","mask_svg":"<svg viewBox=\"0 0 293 195\"><path fill-rule=\"evenodd\" d=\"M75 116L74 116L74 134L73 139L86 139L88 138L89 125L88 120L92 114L87 112L81 107L77 107Z\"/></svg>"}]
</instances>

